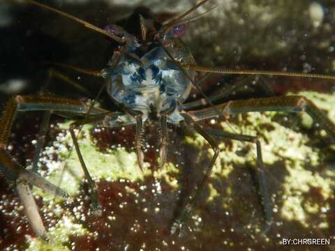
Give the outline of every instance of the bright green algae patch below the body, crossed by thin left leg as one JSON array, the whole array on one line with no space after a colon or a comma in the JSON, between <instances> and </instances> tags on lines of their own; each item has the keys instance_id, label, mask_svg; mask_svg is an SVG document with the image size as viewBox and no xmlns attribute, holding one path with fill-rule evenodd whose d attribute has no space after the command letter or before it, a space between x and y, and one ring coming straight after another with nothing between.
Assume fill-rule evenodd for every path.
<instances>
[{"instance_id":1,"label":"bright green algae patch below the body, crossed by thin left leg","mask_svg":"<svg viewBox=\"0 0 335 251\"><path fill-rule=\"evenodd\" d=\"M71 121L60 124L59 128L68 130L70 123ZM135 152L128 153L122 148L111 150L108 153L99 151L96 144L91 141L90 130L92 128L93 126L91 125L84 126L79 137L77 137L84 162L92 178L102 178L109 181L125 178L130 181L141 181L145 175L149 175L147 168L145 168L144 173L142 173L137 166ZM66 146L67 151L61 151L60 153L64 165L59 169L52 169L52 172L47 174L47 178L54 183L66 184L64 189L66 189L70 195L75 195L80 189L80 184L84 179L84 172L82 171L82 166L80 165L75 149L72 149L73 142L68 131L61 137L57 145ZM144 167L147 166L148 163L145 163Z\"/></svg>"}]
</instances>

